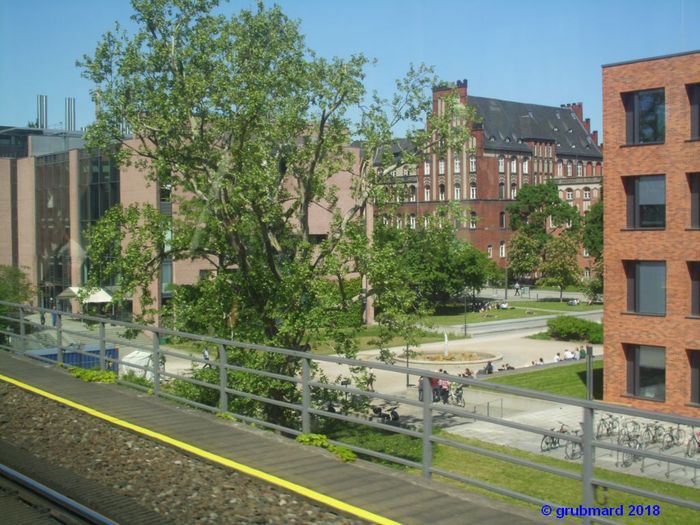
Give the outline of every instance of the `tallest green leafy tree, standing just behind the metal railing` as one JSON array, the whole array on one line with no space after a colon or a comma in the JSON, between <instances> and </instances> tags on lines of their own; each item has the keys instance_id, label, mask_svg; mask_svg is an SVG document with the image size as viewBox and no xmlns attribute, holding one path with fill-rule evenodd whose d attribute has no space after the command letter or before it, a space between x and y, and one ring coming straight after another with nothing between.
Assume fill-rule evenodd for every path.
<instances>
[{"instance_id":1,"label":"tallest green leafy tree, standing just behind the metal railing","mask_svg":"<svg viewBox=\"0 0 700 525\"><path fill-rule=\"evenodd\" d=\"M133 0L135 32L117 26L79 63L100 107L89 144L170 188L178 210L172 219L141 205L108 212L88 235L90 260L105 261L88 285L115 278L115 299L138 296L149 319L157 312L148 287L161 262L204 259L210 278L174 287L169 318L177 328L297 350L332 338L339 352L354 355L347 313L372 296L382 329L410 331L419 313L415 291L394 245L373 242L365 216L395 205L393 171L431 150L461 148L473 110L453 94L443 113L431 113L436 79L423 66L411 67L390 99L368 96L364 56L316 56L278 7L258 4L226 18L214 13L217 3ZM413 129L411 146L397 152L401 123ZM123 138L125 124L133 139ZM347 147L351 139L362 155ZM349 208L329 183L338 173L352 180ZM320 244L311 235L314 207L332 217ZM371 283L359 294L347 285L358 274ZM285 356L235 358L287 376L300 370L298 359ZM298 397L289 383L246 374L229 382ZM246 403L238 408L277 422L296 417Z\"/></svg>"}]
</instances>

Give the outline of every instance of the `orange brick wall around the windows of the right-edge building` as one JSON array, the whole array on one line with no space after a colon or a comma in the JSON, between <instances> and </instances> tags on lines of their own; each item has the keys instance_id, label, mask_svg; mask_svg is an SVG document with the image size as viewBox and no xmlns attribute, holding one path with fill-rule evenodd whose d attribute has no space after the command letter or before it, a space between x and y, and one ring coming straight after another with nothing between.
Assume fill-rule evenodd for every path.
<instances>
[{"instance_id":1,"label":"orange brick wall around the windows of the right-edge building","mask_svg":"<svg viewBox=\"0 0 700 525\"><path fill-rule=\"evenodd\" d=\"M687 174L700 172L700 141L690 140L686 86L700 83L700 52L603 68L605 133L605 399L649 410L700 416L691 400L689 351L700 350L700 318L690 316L688 261L700 261L700 230L690 228ZM623 94L663 88L665 138L628 145ZM665 227L628 229L624 177L665 176ZM628 192L629 193L629 192ZM623 261L665 261L664 315L628 313ZM630 393L623 345L665 349L665 398Z\"/></svg>"}]
</instances>

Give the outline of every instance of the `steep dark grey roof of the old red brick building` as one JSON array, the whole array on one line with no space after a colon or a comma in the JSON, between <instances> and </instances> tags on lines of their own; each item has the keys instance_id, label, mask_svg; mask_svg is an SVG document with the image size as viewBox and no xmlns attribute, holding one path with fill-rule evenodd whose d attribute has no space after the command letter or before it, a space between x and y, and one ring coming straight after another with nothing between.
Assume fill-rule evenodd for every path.
<instances>
[{"instance_id":1,"label":"steep dark grey roof of the old red brick building","mask_svg":"<svg viewBox=\"0 0 700 525\"><path fill-rule=\"evenodd\" d=\"M602 159L586 128L571 108L540 106L495 98L467 98L483 119L484 149L530 152L528 139L556 143L557 155Z\"/></svg>"}]
</instances>

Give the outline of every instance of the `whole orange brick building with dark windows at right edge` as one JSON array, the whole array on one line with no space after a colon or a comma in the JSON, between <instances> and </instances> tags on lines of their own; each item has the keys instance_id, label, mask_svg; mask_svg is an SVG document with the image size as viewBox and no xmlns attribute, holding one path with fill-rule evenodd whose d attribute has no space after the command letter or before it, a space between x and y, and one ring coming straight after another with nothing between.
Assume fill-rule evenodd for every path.
<instances>
[{"instance_id":1,"label":"whole orange brick building with dark windows at right edge","mask_svg":"<svg viewBox=\"0 0 700 525\"><path fill-rule=\"evenodd\" d=\"M700 416L700 51L603 66L605 399Z\"/></svg>"}]
</instances>

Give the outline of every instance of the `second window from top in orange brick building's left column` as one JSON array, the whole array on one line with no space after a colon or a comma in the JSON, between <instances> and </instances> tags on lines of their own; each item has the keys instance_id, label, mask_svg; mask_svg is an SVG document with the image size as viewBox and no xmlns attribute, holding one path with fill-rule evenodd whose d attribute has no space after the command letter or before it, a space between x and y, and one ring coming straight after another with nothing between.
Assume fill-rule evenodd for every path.
<instances>
[{"instance_id":1,"label":"second window from top in orange brick building's left column","mask_svg":"<svg viewBox=\"0 0 700 525\"><path fill-rule=\"evenodd\" d=\"M666 177L624 177L627 194L627 227L666 227Z\"/></svg>"}]
</instances>

